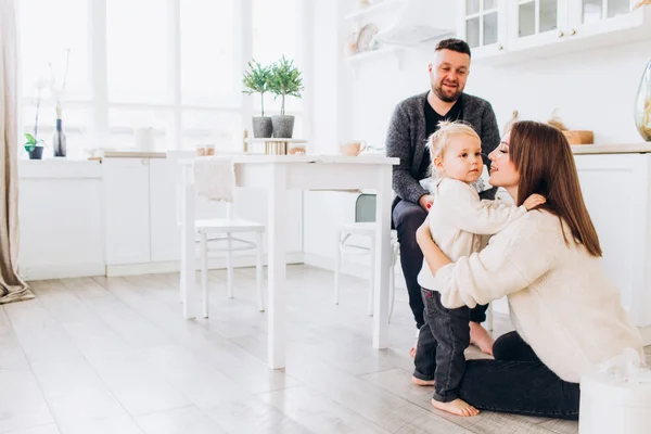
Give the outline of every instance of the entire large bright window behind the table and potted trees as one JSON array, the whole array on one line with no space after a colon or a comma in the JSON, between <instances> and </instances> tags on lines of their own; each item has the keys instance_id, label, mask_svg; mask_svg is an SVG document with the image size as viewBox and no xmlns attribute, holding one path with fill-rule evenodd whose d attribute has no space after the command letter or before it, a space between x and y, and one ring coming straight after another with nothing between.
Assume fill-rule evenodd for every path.
<instances>
[{"instance_id":1,"label":"entire large bright window behind the table and potted trees","mask_svg":"<svg viewBox=\"0 0 651 434\"><path fill-rule=\"evenodd\" d=\"M50 82L54 76L53 89L61 86L69 53L61 98L69 157L135 149L138 128L153 129L159 151L208 143L241 150L251 127L246 107L259 110L257 99L242 93L250 60L243 53L265 63L284 54L304 68L303 1L17 0L22 128L34 130L35 84L46 80L39 138L52 154L56 93ZM276 114L280 103L269 97L266 108ZM301 101L290 99L285 108L296 115L301 136Z\"/></svg>"}]
</instances>

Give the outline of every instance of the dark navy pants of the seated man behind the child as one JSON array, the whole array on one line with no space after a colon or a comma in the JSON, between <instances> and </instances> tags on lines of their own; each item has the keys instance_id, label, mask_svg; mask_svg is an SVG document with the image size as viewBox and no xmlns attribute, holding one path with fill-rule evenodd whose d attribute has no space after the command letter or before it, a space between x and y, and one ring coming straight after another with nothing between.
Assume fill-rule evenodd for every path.
<instances>
[{"instance_id":1,"label":"dark navy pants of the seated man behind the child","mask_svg":"<svg viewBox=\"0 0 651 434\"><path fill-rule=\"evenodd\" d=\"M407 292L409 293L409 307L413 312L416 327L420 330L425 323L423 319L425 305L421 295L421 286L418 284L418 273L423 265L423 254L416 242L416 230L425 221L427 212L412 202L396 200L397 202L393 208L393 224L398 232L398 242L400 243L400 264L407 283ZM477 307L471 309L470 320L484 322L487 308L488 305L477 305Z\"/></svg>"}]
</instances>

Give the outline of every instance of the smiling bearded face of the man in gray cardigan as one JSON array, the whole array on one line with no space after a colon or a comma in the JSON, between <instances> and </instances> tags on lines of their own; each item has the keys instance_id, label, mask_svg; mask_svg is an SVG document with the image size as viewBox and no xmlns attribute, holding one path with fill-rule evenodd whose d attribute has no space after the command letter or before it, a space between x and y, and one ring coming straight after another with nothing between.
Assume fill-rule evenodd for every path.
<instances>
[{"instance_id":1,"label":"smiling bearded face of the man in gray cardigan","mask_svg":"<svg viewBox=\"0 0 651 434\"><path fill-rule=\"evenodd\" d=\"M465 88L470 72L470 56L451 50L436 52L434 64L430 64L432 91L445 102L455 102Z\"/></svg>"}]
</instances>

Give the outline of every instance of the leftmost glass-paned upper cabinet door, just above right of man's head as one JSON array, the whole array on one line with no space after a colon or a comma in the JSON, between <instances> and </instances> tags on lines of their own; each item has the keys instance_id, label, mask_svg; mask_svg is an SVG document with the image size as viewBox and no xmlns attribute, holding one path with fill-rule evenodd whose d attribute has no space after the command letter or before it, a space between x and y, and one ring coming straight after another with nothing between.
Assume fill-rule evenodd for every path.
<instances>
[{"instance_id":1,"label":"leftmost glass-paned upper cabinet door, just above right of man's head","mask_svg":"<svg viewBox=\"0 0 651 434\"><path fill-rule=\"evenodd\" d=\"M470 46L473 58L502 52L507 44L507 2L462 0L458 4L458 34Z\"/></svg>"}]
</instances>

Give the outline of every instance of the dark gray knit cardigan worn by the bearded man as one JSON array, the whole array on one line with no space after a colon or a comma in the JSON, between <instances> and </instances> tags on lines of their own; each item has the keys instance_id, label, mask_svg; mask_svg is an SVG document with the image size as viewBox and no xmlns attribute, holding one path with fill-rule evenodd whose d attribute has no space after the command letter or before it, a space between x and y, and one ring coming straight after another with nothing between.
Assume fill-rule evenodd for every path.
<instances>
[{"instance_id":1,"label":"dark gray knit cardigan worn by the bearded man","mask_svg":"<svg viewBox=\"0 0 651 434\"><path fill-rule=\"evenodd\" d=\"M490 103L481 98L461 93L461 119L470 124L482 139L484 162L499 144L499 129ZM401 199L418 203L427 190L417 179L426 151L425 104L427 92L406 99L396 105L386 133L386 156L400 158L393 166L393 188Z\"/></svg>"}]
</instances>

